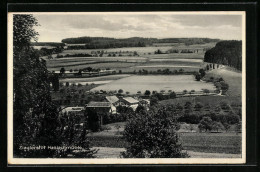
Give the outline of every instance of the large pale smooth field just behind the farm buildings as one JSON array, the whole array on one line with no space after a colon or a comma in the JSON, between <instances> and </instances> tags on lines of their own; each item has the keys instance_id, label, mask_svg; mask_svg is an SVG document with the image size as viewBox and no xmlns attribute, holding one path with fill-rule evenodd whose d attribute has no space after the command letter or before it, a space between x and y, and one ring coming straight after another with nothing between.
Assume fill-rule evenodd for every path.
<instances>
[{"instance_id":1,"label":"large pale smooth field just behind the farm buildings","mask_svg":"<svg viewBox=\"0 0 260 172\"><path fill-rule=\"evenodd\" d=\"M135 94L137 91L142 93L145 90L157 91L172 90L182 92L183 90L201 91L202 89L215 90L211 83L198 82L194 80L193 75L148 75L139 76L133 75L127 78L122 78L105 85L101 85L92 90L119 90Z\"/></svg>"}]
</instances>

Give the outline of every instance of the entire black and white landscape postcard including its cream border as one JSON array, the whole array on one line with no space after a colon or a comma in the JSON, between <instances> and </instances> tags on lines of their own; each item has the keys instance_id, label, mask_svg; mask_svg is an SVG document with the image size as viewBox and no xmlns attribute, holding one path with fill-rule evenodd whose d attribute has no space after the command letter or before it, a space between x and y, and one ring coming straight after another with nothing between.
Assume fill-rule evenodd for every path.
<instances>
[{"instance_id":1,"label":"entire black and white landscape postcard including its cream border","mask_svg":"<svg viewBox=\"0 0 260 172\"><path fill-rule=\"evenodd\" d=\"M246 162L245 12L9 12L9 164Z\"/></svg>"}]
</instances>

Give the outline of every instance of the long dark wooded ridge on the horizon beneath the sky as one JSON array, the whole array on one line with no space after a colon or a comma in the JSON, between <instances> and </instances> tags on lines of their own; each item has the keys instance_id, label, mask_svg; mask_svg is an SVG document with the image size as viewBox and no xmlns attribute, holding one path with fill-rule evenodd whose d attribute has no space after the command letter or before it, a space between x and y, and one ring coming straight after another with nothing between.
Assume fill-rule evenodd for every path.
<instances>
[{"instance_id":1,"label":"long dark wooded ridge on the horizon beneath the sky","mask_svg":"<svg viewBox=\"0 0 260 172\"><path fill-rule=\"evenodd\" d=\"M153 43L184 43L186 45L192 44L205 44L209 42L218 42L219 39L209 38L108 38L108 37L79 37L79 38L66 38L63 43L67 44L85 44L71 46L71 49L84 49L84 48L121 48L121 47L145 47Z\"/></svg>"}]
</instances>

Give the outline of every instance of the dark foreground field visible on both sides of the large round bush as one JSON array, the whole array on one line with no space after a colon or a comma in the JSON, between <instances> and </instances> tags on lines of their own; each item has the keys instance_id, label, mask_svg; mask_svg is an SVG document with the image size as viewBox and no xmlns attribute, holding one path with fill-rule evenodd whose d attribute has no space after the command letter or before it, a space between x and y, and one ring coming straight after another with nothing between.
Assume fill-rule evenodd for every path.
<instances>
[{"instance_id":1,"label":"dark foreground field visible on both sides of the large round bush","mask_svg":"<svg viewBox=\"0 0 260 172\"><path fill-rule=\"evenodd\" d=\"M108 124L111 130L89 134L91 146L108 148L125 148L127 143L115 129L120 125L123 131L125 123ZM241 134L229 133L179 133L185 150L205 153L241 153Z\"/></svg>"}]
</instances>

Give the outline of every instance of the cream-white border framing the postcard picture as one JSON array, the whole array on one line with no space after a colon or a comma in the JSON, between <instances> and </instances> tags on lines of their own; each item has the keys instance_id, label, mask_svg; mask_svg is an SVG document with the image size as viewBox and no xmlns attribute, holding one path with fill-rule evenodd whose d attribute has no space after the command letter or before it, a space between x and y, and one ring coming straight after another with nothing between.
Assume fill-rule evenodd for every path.
<instances>
[{"instance_id":1,"label":"cream-white border framing the postcard picture","mask_svg":"<svg viewBox=\"0 0 260 172\"><path fill-rule=\"evenodd\" d=\"M13 14L46 15L137 15L137 14L179 14L179 15L242 15L242 157L241 158L154 158L154 159L65 159L65 158L14 158L13 157ZM205 12L26 12L8 13L8 164L242 164L246 162L246 28L245 11Z\"/></svg>"}]
</instances>

